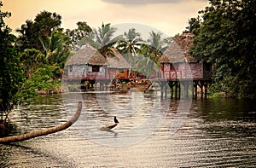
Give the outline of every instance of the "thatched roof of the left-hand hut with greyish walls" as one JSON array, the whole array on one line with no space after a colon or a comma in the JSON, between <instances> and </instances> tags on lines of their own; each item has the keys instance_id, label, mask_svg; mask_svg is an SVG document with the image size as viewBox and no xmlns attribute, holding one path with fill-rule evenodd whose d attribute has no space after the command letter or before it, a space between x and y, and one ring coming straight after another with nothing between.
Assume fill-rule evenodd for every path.
<instances>
[{"instance_id":1,"label":"thatched roof of the left-hand hut with greyish walls","mask_svg":"<svg viewBox=\"0 0 256 168\"><path fill-rule=\"evenodd\" d=\"M66 65L103 66L108 64L107 59L97 49L86 44L67 60Z\"/></svg>"}]
</instances>

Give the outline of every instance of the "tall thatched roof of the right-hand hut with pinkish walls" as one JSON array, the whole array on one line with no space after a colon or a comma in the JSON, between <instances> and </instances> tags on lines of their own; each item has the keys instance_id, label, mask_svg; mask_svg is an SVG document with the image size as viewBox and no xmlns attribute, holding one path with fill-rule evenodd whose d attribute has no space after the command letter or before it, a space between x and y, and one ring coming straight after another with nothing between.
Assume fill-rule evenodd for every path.
<instances>
[{"instance_id":1,"label":"tall thatched roof of the right-hand hut with pinkish walls","mask_svg":"<svg viewBox=\"0 0 256 168\"><path fill-rule=\"evenodd\" d=\"M174 42L160 57L160 63L178 63L183 61L197 62L197 60L189 54L189 49L193 45L194 35L190 32L183 32L177 36Z\"/></svg>"}]
</instances>

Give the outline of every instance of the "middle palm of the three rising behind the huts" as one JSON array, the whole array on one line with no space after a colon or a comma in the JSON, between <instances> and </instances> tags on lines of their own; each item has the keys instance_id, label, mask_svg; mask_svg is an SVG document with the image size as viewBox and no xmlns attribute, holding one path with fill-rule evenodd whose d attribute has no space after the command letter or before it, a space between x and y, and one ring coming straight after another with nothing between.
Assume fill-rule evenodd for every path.
<instances>
[{"instance_id":1,"label":"middle palm of the three rising behind the huts","mask_svg":"<svg viewBox=\"0 0 256 168\"><path fill-rule=\"evenodd\" d=\"M125 32L125 38L120 40L118 48L121 54L125 55L125 59L131 66L134 64L134 56L137 54L143 44L143 38L141 34L136 32L135 28L129 29Z\"/></svg>"}]
</instances>

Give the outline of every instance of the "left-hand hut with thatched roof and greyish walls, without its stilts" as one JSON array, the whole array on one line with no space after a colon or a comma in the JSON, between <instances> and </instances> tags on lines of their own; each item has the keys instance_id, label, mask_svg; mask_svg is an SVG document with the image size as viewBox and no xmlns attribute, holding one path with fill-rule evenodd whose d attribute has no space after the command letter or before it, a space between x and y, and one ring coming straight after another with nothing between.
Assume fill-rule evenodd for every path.
<instances>
[{"instance_id":1,"label":"left-hand hut with thatched roof and greyish walls, without its stilts","mask_svg":"<svg viewBox=\"0 0 256 168\"><path fill-rule=\"evenodd\" d=\"M100 79L107 77L106 58L97 49L85 45L67 62L67 78L69 79Z\"/></svg>"}]
</instances>

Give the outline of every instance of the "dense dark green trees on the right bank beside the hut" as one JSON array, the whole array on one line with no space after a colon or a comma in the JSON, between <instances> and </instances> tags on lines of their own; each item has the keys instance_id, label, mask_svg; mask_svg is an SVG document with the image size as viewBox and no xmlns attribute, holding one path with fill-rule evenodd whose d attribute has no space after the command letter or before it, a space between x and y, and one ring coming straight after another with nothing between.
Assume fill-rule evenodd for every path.
<instances>
[{"instance_id":1,"label":"dense dark green trees on the right bank beside the hut","mask_svg":"<svg viewBox=\"0 0 256 168\"><path fill-rule=\"evenodd\" d=\"M212 91L228 96L256 96L256 2L210 0L200 17L189 20L195 34L191 54L212 62Z\"/></svg>"}]
</instances>

